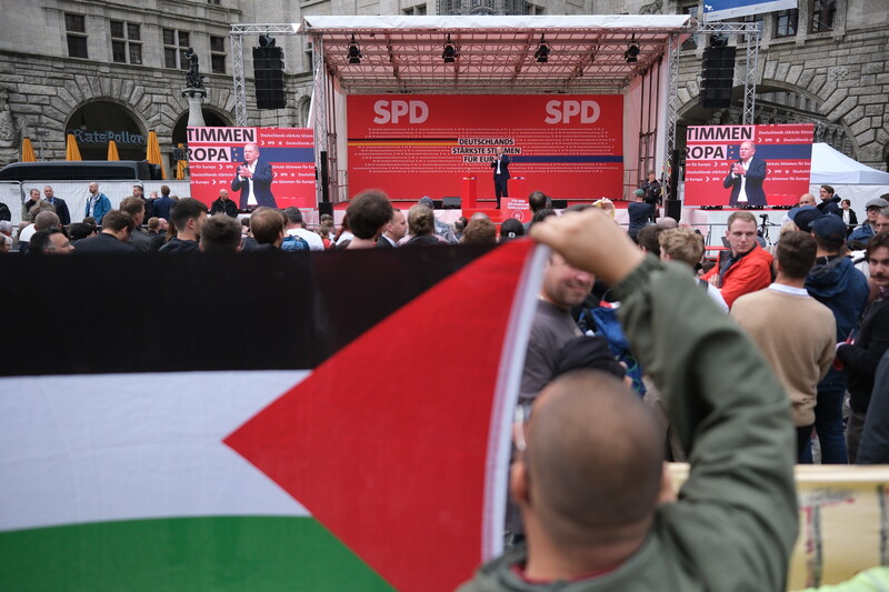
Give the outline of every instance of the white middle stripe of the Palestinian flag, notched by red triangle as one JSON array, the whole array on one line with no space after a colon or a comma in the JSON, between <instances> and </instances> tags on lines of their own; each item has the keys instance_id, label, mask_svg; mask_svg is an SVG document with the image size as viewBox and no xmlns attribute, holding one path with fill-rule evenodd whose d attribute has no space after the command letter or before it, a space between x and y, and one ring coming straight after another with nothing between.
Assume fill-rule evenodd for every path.
<instances>
[{"instance_id":1,"label":"white middle stripe of the Palestinian flag, notched by red triangle","mask_svg":"<svg viewBox=\"0 0 889 592\"><path fill-rule=\"evenodd\" d=\"M0 531L309 515L222 439L309 371L0 379Z\"/></svg>"}]
</instances>

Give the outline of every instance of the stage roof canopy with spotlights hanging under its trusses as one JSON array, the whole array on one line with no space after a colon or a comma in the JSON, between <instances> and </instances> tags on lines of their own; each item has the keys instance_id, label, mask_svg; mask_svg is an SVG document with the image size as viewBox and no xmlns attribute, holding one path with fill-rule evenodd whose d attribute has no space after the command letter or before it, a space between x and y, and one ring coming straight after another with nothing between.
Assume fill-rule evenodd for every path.
<instances>
[{"instance_id":1,"label":"stage roof canopy with spotlights hanging under its trusses","mask_svg":"<svg viewBox=\"0 0 889 592\"><path fill-rule=\"evenodd\" d=\"M639 72L663 59L671 34L692 31L682 17L668 17L672 27L402 27L328 26L332 17L301 32L324 40L324 64L348 93L521 93L621 92ZM680 20L677 21L677 18ZM424 18L419 18L424 19ZM460 19L457 19L458 21ZM582 20L582 19L581 19ZM452 19L439 20L449 23ZM482 22L483 19L476 19ZM492 24L502 19L491 19ZM541 23L542 24L542 23ZM456 49L455 61L443 61L444 46ZM349 63L354 38L360 63ZM549 46L545 63L536 59L541 38ZM639 46L635 63L625 52Z\"/></svg>"}]
</instances>

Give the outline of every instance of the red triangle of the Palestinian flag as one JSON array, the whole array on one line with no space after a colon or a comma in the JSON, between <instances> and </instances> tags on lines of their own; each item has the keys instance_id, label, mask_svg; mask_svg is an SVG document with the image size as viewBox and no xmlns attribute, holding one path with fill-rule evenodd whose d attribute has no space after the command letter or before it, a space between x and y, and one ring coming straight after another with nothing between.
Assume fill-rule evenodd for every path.
<instances>
[{"instance_id":1,"label":"red triangle of the Palestinian flag","mask_svg":"<svg viewBox=\"0 0 889 592\"><path fill-rule=\"evenodd\" d=\"M452 590L500 532L507 335L531 250L446 278L224 440L398 590Z\"/></svg>"}]
</instances>

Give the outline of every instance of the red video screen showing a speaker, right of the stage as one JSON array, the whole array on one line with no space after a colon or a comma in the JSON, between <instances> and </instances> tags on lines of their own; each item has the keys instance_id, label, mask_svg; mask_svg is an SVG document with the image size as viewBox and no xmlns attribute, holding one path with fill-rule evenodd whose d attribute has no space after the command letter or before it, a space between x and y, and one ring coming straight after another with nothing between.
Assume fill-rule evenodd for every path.
<instances>
[{"instance_id":1,"label":"red video screen showing a speaker, right of the stage","mask_svg":"<svg viewBox=\"0 0 889 592\"><path fill-rule=\"evenodd\" d=\"M809 191L811 123L691 126L685 205L795 205Z\"/></svg>"}]
</instances>

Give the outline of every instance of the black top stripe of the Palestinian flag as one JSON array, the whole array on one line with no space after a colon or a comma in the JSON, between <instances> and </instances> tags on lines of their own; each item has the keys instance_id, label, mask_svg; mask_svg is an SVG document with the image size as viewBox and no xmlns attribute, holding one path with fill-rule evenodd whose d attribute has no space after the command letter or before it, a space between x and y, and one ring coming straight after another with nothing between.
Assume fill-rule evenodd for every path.
<instances>
[{"instance_id":1,"label":"black top stripe of the Palestinian flag","mask_svg":"<svg viewBox=\"0 0 889 592\"><path fill-rule=\"evenodd\" d=\"M314 368L489 250L2 255L0 375Z\"/></svg>"}]
</instances>

